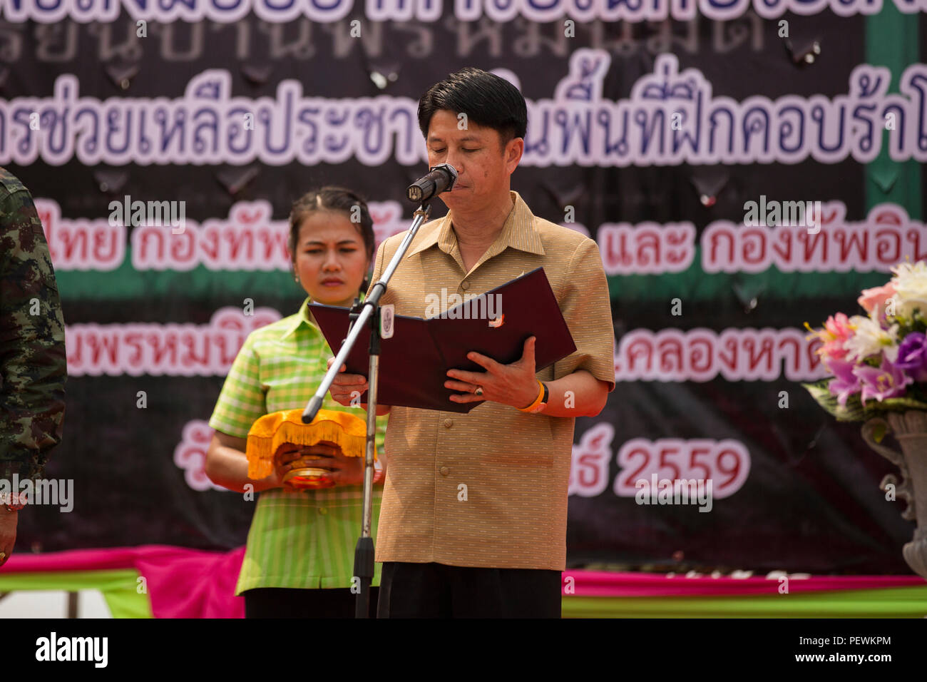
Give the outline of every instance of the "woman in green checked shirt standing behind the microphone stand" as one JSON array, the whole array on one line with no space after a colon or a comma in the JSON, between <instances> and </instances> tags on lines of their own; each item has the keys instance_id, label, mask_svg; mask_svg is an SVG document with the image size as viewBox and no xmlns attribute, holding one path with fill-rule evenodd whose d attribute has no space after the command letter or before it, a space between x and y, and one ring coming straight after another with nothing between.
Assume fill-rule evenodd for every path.
<instances>
[{"instance_id":1,"label":"woman in green checked shirt standing behind the microphone stand","mask_svg":"<svg viewBox=\"0 0 927 682\"><path fill-rule=\"evenodd\" d=\"M354 546L361 529L363 460L334 446L281 445L279 462L266 479L248 478L248 430L257 418L304 407L327 371L331 351L308 303L349 307L367 289L375 238L367 205L349 189L323 187L293 204L289 247L295 279L309 298L289 315L248 335L235 357L210 418L215 435L206 459L210 479L230 490L260 492L236 595L245 597L247 618L351 617ZM326 395L323 407L349 411ZM377 418L376 451L383 457L386 417ZM324 457L337 485L294 491L282 483L291 462ZM375 482L382 480L377 476ZM253 486L247 488L246 486ZM285 489L286 487L286 489ZM372 534L382 489L374 490ZM253 496L251 497L253 498ZM379 585L375 565L373 585ZM371 615L378 588L371 589Z\"/></svg>"}]
</instances>

